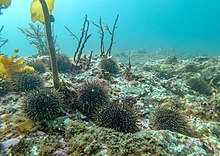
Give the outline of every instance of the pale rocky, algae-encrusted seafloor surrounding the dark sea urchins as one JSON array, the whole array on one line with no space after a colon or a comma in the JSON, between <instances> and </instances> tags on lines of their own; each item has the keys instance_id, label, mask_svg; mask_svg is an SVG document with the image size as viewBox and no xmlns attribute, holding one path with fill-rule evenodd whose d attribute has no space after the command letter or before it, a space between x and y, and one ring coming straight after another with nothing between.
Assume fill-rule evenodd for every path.
<instances>
[{"instance_id":1,"label":"pale rocky, algae-encrusted seafloor surrounding the dark sea urchins","mask_svg":"<svg viewBox=\"0 0 220 156\"><path fill-rule=\"evenodd\" d=\"M220 155L220 57L155 58L132 52L128 72L128 53L113 56L117 74L102 73L94 57L88 69L59 76L71 88L102 79L110 101L134 97L137 132L100 127L79 111L48 121L44 128L32 125L20 110L26 93L13 91L0 97L0 155ZM45 86L52 86L51 75L49 69L40 74ZM175 107L186 116L192 135L153 126L152 116L160 106Z\"/></svg>"}]
</instances>

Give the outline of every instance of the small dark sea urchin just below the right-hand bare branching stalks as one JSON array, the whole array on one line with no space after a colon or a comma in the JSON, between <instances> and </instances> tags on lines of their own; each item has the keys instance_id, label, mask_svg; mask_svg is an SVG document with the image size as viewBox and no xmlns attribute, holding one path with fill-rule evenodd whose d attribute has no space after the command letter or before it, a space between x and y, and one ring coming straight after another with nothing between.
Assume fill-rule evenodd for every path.
<instances>
[{"instance_id":1,"label":"small dark sea urchin just below the right-hand bare branching stalks","mask_svg":"<svg viewBox=\"0 0 220 156\"><path fill-rule=\"evenodd\" d=\"M112 59L112 58L103 58L100 63L99 66L101 69L111 73L111 74L115 74L118 73L119 68L117 63Z\"/></svg>"}]
</instances>

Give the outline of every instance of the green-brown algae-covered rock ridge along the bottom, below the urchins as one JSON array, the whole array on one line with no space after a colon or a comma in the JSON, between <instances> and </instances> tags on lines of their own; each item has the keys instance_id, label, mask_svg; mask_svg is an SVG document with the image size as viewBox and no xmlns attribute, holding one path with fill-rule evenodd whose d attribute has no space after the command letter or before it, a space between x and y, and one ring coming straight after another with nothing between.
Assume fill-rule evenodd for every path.
<instances>
[{"instance_id":1,"label":"green-brown algae-covered rock ridge along the bottom, below the urchins","mask_svg":"<svg viewBox=\"0 0 220 156\"><path fill-rule=\"evenodd\" d=\"M28 134L12 147L13 155L51 155L59 147L59 140L64 138L67 146L64 148L68 155L187 155L213 154L218 149L218 143L205 138L196 139L168 130L141 130L140 132L120 133L112 129L97 127L91 122L66 117L57 118L49 128L62 131L49 135L36 136ZM213 128L214 126L210 126ZM217 128L217 127L216 127ZM213 130L214 131L214 130ZM213 132L215 134L215 131ZM207 138L207 137L206 137ZM204 146L207 146L204 150ZM213 149L216 147L216 150ZM214 151L214 152L213 152ZM180 154L181 153L181 154Z\"/></svg>"}]
</instances>

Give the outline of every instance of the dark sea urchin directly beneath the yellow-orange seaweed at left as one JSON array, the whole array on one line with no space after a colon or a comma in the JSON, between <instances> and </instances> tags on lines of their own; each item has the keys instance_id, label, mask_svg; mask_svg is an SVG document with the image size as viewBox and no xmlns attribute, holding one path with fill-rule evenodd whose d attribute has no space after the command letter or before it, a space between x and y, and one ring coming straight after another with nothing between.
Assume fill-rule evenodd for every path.
<instances>
[{"instance_id":1,"label":"dark sea urchin directly beneath the yellow-orange seaweed at left","mask_svg":"<svg viewBox=\"0 0 220 156\"><path fill-rule=\"evenodd\" d=\"M16 91L30 91L43 85L42 79L34 72L20 72L12 77Z\"/></svg>"}]
</instances>

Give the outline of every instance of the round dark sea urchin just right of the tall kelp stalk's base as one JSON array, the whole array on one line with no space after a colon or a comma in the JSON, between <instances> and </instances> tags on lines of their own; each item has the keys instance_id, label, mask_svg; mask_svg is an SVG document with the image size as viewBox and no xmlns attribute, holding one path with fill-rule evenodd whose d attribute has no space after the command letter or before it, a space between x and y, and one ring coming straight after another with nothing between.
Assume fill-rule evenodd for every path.
<instances>
[{"instance_id":1,"label":"round dark sea urchin just right of the tall kelp stalk's base","mask_svg":"<svg viewBox=\"0 0 220 156\"><path fill-rule=\"evenodd\" d=\"M92 113L107 101L108 89L98 80L86 80L78 91L77 108L91 117Z\"/></svg>"}]
</instances>

